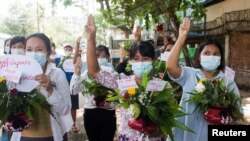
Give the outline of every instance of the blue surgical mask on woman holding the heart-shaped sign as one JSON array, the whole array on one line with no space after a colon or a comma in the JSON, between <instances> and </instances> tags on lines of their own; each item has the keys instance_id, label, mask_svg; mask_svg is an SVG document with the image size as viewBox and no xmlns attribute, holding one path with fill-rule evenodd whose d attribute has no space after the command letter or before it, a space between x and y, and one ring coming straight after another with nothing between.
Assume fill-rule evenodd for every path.
<instances>
[{"instance_id":1,"label":"blue surgical mask on woman holding the heart-shaped sign","mask_svg":"<svg viewBox=\"0 0 250 141\"><path fill-rule=\"evenodd\" d=\"M41 66L44 66L47 61L46 54L43 52L26 52L25 55L35 59Z\"/></svg>"}]
</instances>

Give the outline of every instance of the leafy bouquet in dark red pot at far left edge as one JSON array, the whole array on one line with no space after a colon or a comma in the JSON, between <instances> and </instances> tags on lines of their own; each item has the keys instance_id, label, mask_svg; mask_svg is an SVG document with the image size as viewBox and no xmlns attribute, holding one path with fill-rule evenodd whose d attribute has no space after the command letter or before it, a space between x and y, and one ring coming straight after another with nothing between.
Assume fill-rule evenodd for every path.
<instances>
[{"instance_id":1,"label":"leafy bouquet in dark red pot at far left edge","mask_svg":"<svg viewBox=\"0 0 250 141\"><path fill-rule=\"evenodd\" d=\"M38 90L20 92L12 82L0 77L0 126L4 125L6 130L25 130L32 124L37 112L46 110L51 113L50 108L50 104Z\"/></svg>"}]
</instances>

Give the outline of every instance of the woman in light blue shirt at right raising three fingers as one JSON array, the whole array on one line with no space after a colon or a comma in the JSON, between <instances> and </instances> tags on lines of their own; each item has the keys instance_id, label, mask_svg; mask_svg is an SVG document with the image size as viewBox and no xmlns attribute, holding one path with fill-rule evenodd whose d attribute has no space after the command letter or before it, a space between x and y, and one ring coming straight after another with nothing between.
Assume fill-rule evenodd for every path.
<instances>
[{"instance_id":1,"label":"woman in light blue shirt at right raising three fingers","mask_svg":"<svg viewBox=\"0 0 250 141\"><path fill-rule=\"evenodd\" d=\"M179 83L183 88L180 105L189 115L183 116L178 120L185 123L195 133L174 129L175 141L207 141L208 139L208 123L203 115L195 110L193 103L186 102L191 95L189 92L195 90L198 79L207 78L210 80L222 78L228 82L228 88L234 90L238 96L239 90L235 82L227 79L222 70L224 69L224 51L219 42L215 39L209 39L201 43L197 52L197 68L181 67L179 65L179 55L185 44L190 28L190 20L185 18L179 29L179 37L171 50L167 70L170 78Z\"/></svg>"}]
</instances>

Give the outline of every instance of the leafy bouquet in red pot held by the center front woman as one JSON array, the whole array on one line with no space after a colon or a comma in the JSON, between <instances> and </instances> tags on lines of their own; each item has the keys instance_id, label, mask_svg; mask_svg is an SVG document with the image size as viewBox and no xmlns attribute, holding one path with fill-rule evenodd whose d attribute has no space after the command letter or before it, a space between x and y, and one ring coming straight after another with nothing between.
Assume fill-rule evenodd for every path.
<instances>
[{"instance_id":1,"label":"leafy bouquet in red pot held by the center front woman","mask_svg":"<svg viewBox=\"0 0 250 141\"><path fill-rule=\"evenodd\" d=\"M161 131L173 140L172 128L178 127L192 131L184 124L176 120L177 117L186 113L181 111L179 104L174 98L174 89L164 87L162 91L147 91L150 74L144 73L142 83L138 88L129 88L125 93L107 98L108 101L119 101L119 105L129 109L133 118L128 121L128 126L145 134Z\"/></svg>"}]
</instances>

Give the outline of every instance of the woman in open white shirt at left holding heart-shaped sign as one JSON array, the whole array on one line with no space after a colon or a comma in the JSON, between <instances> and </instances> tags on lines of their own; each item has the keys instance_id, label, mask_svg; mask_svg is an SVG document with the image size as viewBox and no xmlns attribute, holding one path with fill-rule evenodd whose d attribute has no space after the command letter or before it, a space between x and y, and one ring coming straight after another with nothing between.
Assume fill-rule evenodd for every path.
<instances>
[{"instance_id":1,"label":"woman in open white shirt at left holding heart-shaped sign","mask_svg":"<svg viewBox=\"0 0 250 141\"><path fill-rule=\"evenodd\" d=\"M26 39L26 56L42 66L43 74L35 76L35 80L40 83L38 89L42 95L52 105L53 116L44 112L44 119L34 117L33 124L22 131L21 141L67 140L63 135L72 127L69 84L63 71L49 63L50 54L50 40L45 34L35 33Z\"/></svg>"}]
</instances>

